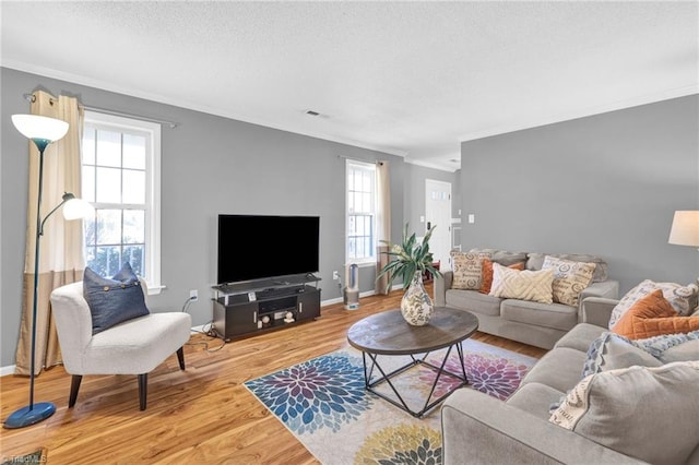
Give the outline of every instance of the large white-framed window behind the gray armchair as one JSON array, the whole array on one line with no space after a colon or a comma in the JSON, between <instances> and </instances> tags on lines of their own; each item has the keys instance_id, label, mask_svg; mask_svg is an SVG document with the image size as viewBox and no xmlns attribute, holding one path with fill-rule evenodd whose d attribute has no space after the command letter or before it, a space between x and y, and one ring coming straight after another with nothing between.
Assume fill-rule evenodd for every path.
<instances>
[{"instance_id":1,"label":"large white-framed window behind the gray armchair","mask_svg":"<svg viewBox=\"0 0 699 465\"><path fill-rule=\"evenodd\" d=\"M161 127L85 111L82 196L95 207L84 222L85 262L112 276L125 262L161 286Z\"/></svg>"}]
</instances>

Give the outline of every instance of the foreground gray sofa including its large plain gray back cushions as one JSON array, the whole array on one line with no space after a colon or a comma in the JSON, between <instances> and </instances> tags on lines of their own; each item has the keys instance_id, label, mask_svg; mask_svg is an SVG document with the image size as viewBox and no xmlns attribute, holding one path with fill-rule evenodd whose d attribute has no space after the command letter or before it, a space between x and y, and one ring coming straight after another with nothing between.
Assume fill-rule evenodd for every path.
<instances>
[{"instance_id":1,"label":"foreground gray sofa including its large plain gray back cushions","mask_svg":"<svg viewBox=\"0 0 699 465\"><path fill-rule=\"evenodd\" d=\"M472 389L455 391L441 408L443 463L699 464L699 331L655 341L655 360L608 332L616 305L587 298L582 322L507 402ZM595 341L603 343L596 353ZM568 406L587 410L566 429L552 421L552 413L584 384L591 355L609 370L592 377L594 390L573 397Z\"/></svg>"}]
</instances>

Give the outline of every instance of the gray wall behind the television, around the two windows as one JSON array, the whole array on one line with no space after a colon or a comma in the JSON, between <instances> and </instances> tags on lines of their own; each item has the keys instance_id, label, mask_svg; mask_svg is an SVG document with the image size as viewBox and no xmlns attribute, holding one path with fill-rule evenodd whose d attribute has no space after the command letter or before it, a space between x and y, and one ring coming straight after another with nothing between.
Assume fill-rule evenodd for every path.
<instances>
[{"instance_id":1,"label":"gray wall behind the television, around the two windows","mask_svg":"<svg viewBox=\"0 0 699 465\"><path fill-rule=\"evenodd\" d=\"M85 105L174 120L163 128L162 278L167 286L149 305L154 311L179 310L189 289L200 299L190 306L194 324L212 318L211 285L216 275L216 218L220 213L308 214L321 217L322 299L341 297L332 271L344 270L345 158L388 160L391 166L392 240L403 224L401 157L273 130L183 108L0 69L2 85L2 194L0 366L14 363L26 228L27 141L10 116L27 112L23 94L35 88L75 95ZM434 172L429 172L434 171ZM426 176L440 171L427 170ZM35 180L32 180L35 182ZM274 243L271 247L280 247ZM374 289L374 269L362 272L360 290Z\"/></svg>"}]
</instances>

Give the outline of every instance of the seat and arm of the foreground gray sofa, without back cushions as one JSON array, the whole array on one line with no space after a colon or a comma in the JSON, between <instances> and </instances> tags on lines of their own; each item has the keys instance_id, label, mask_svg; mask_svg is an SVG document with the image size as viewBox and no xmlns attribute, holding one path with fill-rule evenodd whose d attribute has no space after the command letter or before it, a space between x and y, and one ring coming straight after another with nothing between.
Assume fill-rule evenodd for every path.
<instances>
[{"instance_id":1,"label":"seat and arm of the foreground gray sofa, without back cushions","mask_svg":"<svg viewBox=\"0 0 699 465\"><path fill-rule=\"evenodd\" d=\"M552 404L560 402L581 380L587 350L607 331L616 302L585 299L583 322L542 357L507 402L467 388L457 390L441 407L443 463L644 463L548 420ZM664 425L626 425L626 428L647 428L648 439L652 441L653 429ZM624 431L620 428L621 434ZM687 463L699 464L699 445Z\"/></svg>"}]
</instances>

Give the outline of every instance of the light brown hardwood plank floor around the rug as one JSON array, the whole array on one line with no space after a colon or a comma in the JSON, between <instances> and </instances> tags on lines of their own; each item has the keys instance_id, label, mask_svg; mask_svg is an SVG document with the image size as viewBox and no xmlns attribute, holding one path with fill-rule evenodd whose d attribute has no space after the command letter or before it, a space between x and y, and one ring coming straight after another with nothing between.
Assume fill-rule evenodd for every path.
<instances>
[{"instance_id":1,"label":"light brown hardwood plank floor around the rug","mask_svg":"<svg viewBox=\"0 0 699 465\"><path fill-rule=\"evenodd\" d=\"M431 289L428 286L431 294ZM49 464L315 464L313 456L244 386L248 380L348 346L346 330L359 319L396 308L402 291L362 299L358 310L323 307L321 318L236 341L193 334L187 370L173 354L149 375L149 404L139 410L135 377L83 378L68 408L70 375L62 367L36 379L35 402L52 402L49 419L0 430L2 460L46 448ZM476 333L473 338L533 357L545 350ZM27 404L26 378L0 378L1 415Z\"/></svg>"}]
</instances>

